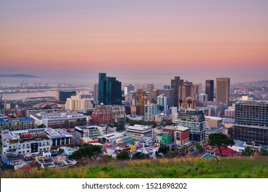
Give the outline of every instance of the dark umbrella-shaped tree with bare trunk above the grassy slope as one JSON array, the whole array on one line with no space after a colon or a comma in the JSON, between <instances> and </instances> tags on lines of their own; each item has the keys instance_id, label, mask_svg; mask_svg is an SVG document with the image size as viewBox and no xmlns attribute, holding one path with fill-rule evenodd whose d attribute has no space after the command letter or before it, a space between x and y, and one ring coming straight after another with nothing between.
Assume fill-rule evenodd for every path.
<instances>
[{"instance_id":1,"label":"dark umbrella-shaped tree with bare trunk above the grassy slope","mask_svg":"<svg viewBox=\"0 0 268 192\"><path fill-rule=\"evenodd\" d=\"M221 156L223 156L223 150L227 149L230 145L234 145L234 140L227 137L227 135L222 133L212 133L208 136L209 138L209 145L218 147Z\"/></svg>"}]
</instances>

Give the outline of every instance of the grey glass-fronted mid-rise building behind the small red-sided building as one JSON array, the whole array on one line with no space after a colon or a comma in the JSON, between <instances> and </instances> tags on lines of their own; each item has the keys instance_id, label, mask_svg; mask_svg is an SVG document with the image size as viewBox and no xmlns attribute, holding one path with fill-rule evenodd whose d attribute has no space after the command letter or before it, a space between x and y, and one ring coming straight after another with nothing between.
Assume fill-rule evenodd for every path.
<instances>
[{"instance_id":1,"label":"grey glass-fronted mid-rise building behind the small red-sided building","mask_svg":"<svg viewBox=\"0 0 268 192\"><path fill-rule=\"evenodd\" d=\"M191 141L201 142L205 139L205 117L202 110L179 110L177 125L190 128Z\"/></svg>"}]
</instances>

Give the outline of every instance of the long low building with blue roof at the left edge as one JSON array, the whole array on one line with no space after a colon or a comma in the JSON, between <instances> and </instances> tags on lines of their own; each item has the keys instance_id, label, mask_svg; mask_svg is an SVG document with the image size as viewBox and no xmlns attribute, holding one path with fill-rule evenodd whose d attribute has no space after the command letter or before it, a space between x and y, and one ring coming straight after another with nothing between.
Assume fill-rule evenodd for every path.
<instances>
[{"instance_id":1,"label":"long low building with blue roof at the left edge","mask_svg":"<svg viewBox=\"0 0 268 192\"><path fill-rule=\"evenodd\" d=\"M0 132L3 130L30 130L37 128L34 119L30 117L7 118L0 117Z\"/></svg>"}]
</instances>

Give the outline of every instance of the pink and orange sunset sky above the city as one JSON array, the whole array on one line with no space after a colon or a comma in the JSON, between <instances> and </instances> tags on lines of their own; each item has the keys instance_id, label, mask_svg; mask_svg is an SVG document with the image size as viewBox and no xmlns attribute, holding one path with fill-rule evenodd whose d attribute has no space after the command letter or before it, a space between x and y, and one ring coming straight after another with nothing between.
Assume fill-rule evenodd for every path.
<instances>
[{"instance_id":1,"label":"pink and orange sunset sky above the city","mask_svg":"<svg viewBox=\"0 0 268 192\"><path fill-rule=\"evenodd\" d=\"M268 80L268 1L3 0L0 74Z\"/></svg>"}]
</instances>

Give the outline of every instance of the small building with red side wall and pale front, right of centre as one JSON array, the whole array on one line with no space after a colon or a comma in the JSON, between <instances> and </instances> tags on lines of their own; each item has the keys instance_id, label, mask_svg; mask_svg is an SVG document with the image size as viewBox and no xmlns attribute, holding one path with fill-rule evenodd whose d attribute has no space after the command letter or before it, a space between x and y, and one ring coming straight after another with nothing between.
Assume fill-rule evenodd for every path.
<instances>
[{"instance_id":1,"label":"small building with red side wall and pale front, right of centre","mask_svg":"<svg viewBox=\"0 0 268 192\"><path fill-rule=\"evenodd\" d=\"M190 128L183 126L175 127L174 141L176 145L184 145L189 142Z\"/></svg>"}]
</instances>

